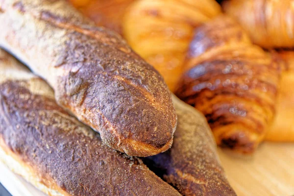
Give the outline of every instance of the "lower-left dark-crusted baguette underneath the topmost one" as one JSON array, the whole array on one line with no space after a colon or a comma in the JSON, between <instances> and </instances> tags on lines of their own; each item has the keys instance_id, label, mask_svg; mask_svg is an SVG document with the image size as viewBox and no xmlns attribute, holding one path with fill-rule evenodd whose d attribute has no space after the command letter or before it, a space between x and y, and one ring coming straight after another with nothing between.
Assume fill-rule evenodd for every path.
<instances>
[{"instance_id":1,"label":"lower-left dark-crusted baguette underneath the topmost one","mask_svg":"<svg viewBox=\"0 0 294 196\"><path fill-rule=\"evenodd\" d=\"M180 196L141 160L101 142L42 79L0 50L0 161L51 196Z\"/></svg>"}]
</instances>

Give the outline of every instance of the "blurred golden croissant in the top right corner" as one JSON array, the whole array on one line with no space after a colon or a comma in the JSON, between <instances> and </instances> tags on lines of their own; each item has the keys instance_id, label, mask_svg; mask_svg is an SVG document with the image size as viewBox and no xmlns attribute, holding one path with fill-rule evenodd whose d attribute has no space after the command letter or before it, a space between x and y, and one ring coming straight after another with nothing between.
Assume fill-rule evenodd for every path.
<instances>
[{"instance_id":1,"label":"blurred golden croissant in the top right corner","mask_svg":"<svg viewBox=\"0 0 294 196\"><path fill-rule=\"evenodd\" d=\"M293 0L228 0L222 5L255 44L264 48L294 47Z\"/></svg>"}]
</instances>

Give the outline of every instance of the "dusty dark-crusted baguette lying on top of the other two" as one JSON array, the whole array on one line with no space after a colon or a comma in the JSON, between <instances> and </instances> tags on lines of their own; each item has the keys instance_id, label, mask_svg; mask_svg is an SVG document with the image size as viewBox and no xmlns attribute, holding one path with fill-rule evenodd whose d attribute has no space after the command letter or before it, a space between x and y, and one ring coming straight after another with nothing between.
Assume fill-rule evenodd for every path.
<instances>
[{"instance_id":1,"label":"dusty dark-crusted baguette lying on top of the other two","mask_svg":"<svg viewBox=\"0 0 294 196\"><path fill-rule=\"evenodd\" d=\"M57 103L128 155L172 145L176 115L163 78L122 38L64 0L1 0L0 46L55 91Z\"/></svg>"}]
</instances>

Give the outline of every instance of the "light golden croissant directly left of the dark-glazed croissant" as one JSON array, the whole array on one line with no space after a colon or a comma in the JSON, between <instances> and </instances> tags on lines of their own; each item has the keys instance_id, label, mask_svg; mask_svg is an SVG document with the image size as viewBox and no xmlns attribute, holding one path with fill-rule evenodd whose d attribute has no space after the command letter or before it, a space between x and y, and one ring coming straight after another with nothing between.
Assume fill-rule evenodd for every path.
<instances>
[{"instance_id":1,"label":"light golden croissant directly left of the dark-glazed croissant","mask_svg":"<svg viewBox=\"0 0 294 196\"><path fill-rule=\"evenodd\" d=\"M173 91L194 28L220 12L215 0L138 0L125 13L123 35Z\"/></svg>"}]
</instances>

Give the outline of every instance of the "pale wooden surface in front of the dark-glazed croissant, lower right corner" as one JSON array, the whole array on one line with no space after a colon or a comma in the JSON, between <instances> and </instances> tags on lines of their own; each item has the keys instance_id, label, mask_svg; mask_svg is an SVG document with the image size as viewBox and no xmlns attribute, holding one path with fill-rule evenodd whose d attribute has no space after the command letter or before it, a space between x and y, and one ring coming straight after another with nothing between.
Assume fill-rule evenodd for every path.
<instances>
[{"instance_id":1,"label":"pale wooden surface in front of the dark-glazed croissant, lower right corner","mask_svg":"<svg viewBox=\"0 0 294 196\"><path fill-rule=\"evenodd\" d=\"M294 196L294 144L266 142L246 157L218 151L238 196Z\"/></svg>"}]
</instances>

